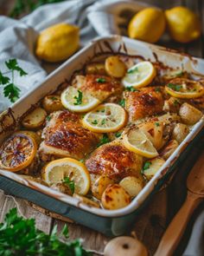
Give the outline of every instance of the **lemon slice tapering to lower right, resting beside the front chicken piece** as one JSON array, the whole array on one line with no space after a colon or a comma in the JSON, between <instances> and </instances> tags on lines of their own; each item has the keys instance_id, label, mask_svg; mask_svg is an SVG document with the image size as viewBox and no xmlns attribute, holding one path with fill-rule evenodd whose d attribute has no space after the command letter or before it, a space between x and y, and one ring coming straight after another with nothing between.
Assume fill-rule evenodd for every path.
<instances>
[{"instance_id":1,"label":"lemon slice tapering to lower right, resting beside the front chicken piece","mask_svg":"<svg viewBox=\"0 0 204 256\"><path fill-rule=\"evenodd\" d=\"M153 158L158 155L156 148L139 128L130 129L125 133L123 142L125 148L147 158Z\"/></svg>"}]
</instances>

